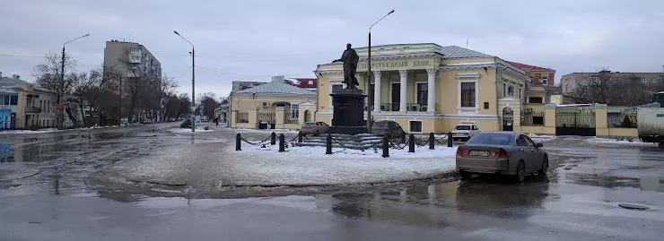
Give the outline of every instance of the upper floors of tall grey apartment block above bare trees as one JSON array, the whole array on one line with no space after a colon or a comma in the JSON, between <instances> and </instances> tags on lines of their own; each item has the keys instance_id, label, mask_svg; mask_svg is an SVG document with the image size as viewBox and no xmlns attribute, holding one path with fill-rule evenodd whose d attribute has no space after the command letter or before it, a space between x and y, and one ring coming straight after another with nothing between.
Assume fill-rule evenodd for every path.
<instances>
[{"instance_id":1,"label":"upper floors of tall grey apartment block above bare trees","mask_svg":"<svg viewBox=\"0 0 664 241\"><path fill-rule=\"evenodd\" d=\"M104 66L121 73L123 80L129 78L162 77L162 64L143 45L119 40L106 41Z\"/></svg>"}]
</instances>

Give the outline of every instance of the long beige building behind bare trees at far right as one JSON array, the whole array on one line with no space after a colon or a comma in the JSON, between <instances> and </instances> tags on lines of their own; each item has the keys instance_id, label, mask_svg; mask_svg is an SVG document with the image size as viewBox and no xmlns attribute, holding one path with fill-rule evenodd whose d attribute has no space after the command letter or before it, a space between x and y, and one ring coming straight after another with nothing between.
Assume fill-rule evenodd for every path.
<instances>
[{"instance_id":1,"label":"long beige building behind bare trees at far right","mask_svg":"<svg viewBox=\"0 0 664 241\"><path fill-rule=\"evenodd\" d=\"M563 75L560 79L561 89L564 95L575 96L583 86L587 86L590 82L598 81L603 76L610 76L612 79L629 79L642 82L646 85L652 85L659 82L664 82L664 72L589 72L589 73L568 73Z\"/></svg>"}]
</instances>

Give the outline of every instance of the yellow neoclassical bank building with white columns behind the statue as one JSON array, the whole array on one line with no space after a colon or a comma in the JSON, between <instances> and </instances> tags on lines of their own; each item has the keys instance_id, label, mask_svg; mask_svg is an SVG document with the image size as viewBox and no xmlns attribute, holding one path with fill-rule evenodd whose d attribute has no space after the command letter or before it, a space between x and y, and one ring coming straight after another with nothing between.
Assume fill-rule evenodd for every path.
<instances>
[{"instance_id":1,"label":"yellow neoclassical bank building with white columns behind the statue","mask_svg":"<svg viewBox=\"0 0 664 241\"><path fill-rule=\"evenodd\" d=\"M357 77L365 89L367 48ZM497 56L463 47L397 44L371 47L371 80L367 101L375 121L394 120L409 133L447 133L458 124L483 131L519 125L529 76ZM330 93L345 88L340 63L318 65L316 121L331 123ZM504 113L504 115L503 115ZM366 118L366 114L365 114Z\"/></svg>"}]
</instances>

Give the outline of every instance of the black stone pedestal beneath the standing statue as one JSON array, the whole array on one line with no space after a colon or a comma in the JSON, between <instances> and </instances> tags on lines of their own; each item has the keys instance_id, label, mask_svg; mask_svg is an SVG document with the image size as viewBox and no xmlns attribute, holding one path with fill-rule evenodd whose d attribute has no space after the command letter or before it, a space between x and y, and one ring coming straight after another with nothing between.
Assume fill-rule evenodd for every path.
<instances>
[{"instance_id":1,"label":"black stone pedestal beneath the standing statue","mask_svg":"<svg viewBox=\"0 0 664 241\"><path fill-rule=\"evenodd\" d=\"M332 96L334 113L328 133L368 133L364 121L364 98L367 96L362 90L343 89L329 95Z\"/></svg>"}]
</instances>

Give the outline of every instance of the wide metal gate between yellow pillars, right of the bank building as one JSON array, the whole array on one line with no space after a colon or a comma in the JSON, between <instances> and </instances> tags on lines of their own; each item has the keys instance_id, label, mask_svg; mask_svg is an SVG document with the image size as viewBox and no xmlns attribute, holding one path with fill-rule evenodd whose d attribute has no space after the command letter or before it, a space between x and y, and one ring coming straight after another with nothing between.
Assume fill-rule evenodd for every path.
<instances>
[{"instance_id":1,"label":"wide metal gate between yellow pillars, right of the bank building","mask_svg":"<svg viewBox=\"0 0 664 241\"><path fill-rule=\"evenodd\" d=\"M594 108L555 110L555 134L595 136Z\"/></svg>"}]
</instances>

